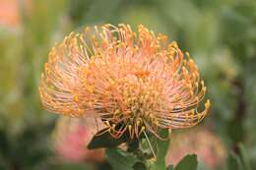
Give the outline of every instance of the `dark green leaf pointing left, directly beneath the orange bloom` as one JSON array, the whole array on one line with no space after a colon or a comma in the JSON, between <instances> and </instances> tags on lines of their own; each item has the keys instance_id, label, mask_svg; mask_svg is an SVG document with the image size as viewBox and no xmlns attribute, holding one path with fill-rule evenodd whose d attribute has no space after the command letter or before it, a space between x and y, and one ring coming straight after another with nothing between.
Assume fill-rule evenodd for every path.
<instances>
[{"instance_id":1,"label":"dark green leaf pointing left, directly beneath the orange bloom","mask_svg":"<svg viewBox=\"0 0 256 170\"><path fill-rule=\"evenodd\" d=\"M103 131L105 131L105 129L98 132L98 134L100 134ZM115 147L125 141L126 141L125 135L123 135L119 139L114 139L113 137L111 137L111 135L108 132L106 132L99 136L96 135L92 139L92 141L88 144L88 148L95 149L95 148L100 148L100 147Z\"/></svg>"}]
</instances>

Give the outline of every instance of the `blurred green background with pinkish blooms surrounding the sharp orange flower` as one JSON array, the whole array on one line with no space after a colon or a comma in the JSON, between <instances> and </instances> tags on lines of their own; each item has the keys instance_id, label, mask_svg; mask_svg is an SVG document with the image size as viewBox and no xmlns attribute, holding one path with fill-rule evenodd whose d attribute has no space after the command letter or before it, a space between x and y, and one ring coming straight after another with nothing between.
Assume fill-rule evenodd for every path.
<instances>
[{"instance_id":1,"label":"blurred green background with pinkish blooms surrounding the sharp orange flower","mask_svg":"<svg viewBox=\"0 0 256 170\"><path fill-rule=\"evenodd\" d=\"M202 170L229 169L239 157L256 169L255 0L0 0L0 170L109 169L102 150L88 153L83 122L61 127L67 120L56 123L37 91L50 47L105 23L165 33L199 65L211 113L173 133L169 164L195 152Z\"/></svg>"}]
</instances>

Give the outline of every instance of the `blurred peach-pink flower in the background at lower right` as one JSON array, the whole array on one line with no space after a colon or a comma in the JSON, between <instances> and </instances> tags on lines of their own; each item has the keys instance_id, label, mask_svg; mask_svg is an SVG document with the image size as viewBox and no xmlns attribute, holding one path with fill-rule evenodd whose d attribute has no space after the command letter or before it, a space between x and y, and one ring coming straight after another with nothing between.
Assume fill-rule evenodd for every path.
<instances>
[{"instance_id":1,"label":"blurred peach-pink flower in the background at lower right","mask_svg":"<svg viewBox=\"0 0 256 170\"><path fill-rule=\"evenodd\" d=\"M216 169L224 163L226 151L220 137L201 128L182 134L173 134L165 161L176 165L185 155L195 153L209 168Z\"/></svg>"}]
</instances>

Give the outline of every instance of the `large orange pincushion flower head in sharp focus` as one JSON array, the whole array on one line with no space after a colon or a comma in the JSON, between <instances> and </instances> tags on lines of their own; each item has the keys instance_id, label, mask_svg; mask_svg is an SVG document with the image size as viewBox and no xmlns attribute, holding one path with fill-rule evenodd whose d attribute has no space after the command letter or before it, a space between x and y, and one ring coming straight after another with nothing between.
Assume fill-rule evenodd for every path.
<instances>
[{"instance_id":1,"label":"large orange pincushion flower head in sharp focus","mask_svg":"<svg viewBox=\"0 0 256 170\"><path fill-rule=\"evenodd\" d=\"M176 42L143 26L104 25L70 33L53 47L39 87L44 107L55 113L95 117L114 138L138 138L158 129L188 128L206 92L199 71Z\"/></svg>"}]
</instances>

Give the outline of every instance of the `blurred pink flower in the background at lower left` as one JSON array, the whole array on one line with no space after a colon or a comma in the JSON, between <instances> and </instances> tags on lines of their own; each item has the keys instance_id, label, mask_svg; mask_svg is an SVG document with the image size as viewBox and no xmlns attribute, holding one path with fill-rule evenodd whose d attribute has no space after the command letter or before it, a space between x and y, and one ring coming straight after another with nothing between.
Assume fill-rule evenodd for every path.
<instances>
[{"instance_id":1,"label":"blurred pink flower in the background at lower left","mask_svg":"<svg viewBox=\"0 0 256 170\"><path fill-rule=\"evenodd\" d=\"M66 161L102 161L103 149L87 148L94 137L94 120L62 117L53 133L54 150Z\"/></svg>"}]
</instances>

